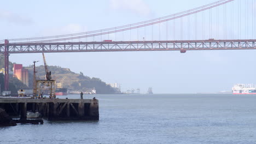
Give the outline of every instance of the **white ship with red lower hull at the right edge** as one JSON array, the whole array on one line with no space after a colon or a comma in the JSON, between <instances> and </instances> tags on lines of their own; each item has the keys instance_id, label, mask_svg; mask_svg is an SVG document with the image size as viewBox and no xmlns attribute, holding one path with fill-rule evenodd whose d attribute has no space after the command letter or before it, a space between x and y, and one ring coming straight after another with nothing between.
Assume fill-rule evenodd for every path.
<instances>
[{"instance_id":1,"label":"white ship with red lower hull at the right edge","mask_svg":"<svg viewBox=\"0 0 256 144\"><path fill-rule=\"evenodd\" d=\"M256 86L253 84L236 84L232 87L233 94L256 94Z\"/></svg>"}]
</instances>

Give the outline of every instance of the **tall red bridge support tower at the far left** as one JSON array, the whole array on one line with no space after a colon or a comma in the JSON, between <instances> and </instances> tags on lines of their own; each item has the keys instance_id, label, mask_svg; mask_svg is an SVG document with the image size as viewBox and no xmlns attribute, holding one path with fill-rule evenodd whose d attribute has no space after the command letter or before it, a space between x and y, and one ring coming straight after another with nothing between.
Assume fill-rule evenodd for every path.
<instances>
[{"instance_id":1,"label":"tall red bridge support tower at the far left","mask_svg":"<svg viewBox=\"0 0 256 144\"><path fill-rule=\"evenodd\" d=\"M4 91L9 89L9 50L8 50L9 41L4 40Z\"/></svg>"}]
</instances>

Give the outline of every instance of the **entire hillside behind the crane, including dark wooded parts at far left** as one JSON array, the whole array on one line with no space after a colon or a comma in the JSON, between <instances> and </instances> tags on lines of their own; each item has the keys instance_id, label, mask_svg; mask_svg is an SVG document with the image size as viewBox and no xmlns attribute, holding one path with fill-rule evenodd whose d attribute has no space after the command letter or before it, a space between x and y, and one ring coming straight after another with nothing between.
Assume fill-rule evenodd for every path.
<instances>
[{"instance_id":1,"label":"entire hillside behind the crane, including dark wooded parts at far left","mask_svg":"<svg viewBox=\"0 0 256 144\"><path fill-rule=\"evenodd\" d=\"M9 62L9 65L11 65L11 68L13 68L13 64ZM0 68L4 68L4 56L0 55ZM29 88L33 88L33 65L30 65L30 67L25 67L28 69L28 76L29 76ZM59 82L64 76L66 76L66 79L63 81L63 87L68 88L71 91L86 91L88 89L95 88L97 94L114 94L117 93L115 90L110 87L109 85L106 85L105 82L101 81L98 78L95 77L88 77L84 76L83 73L76 74L73 71L71 71L68 68L61 68L57 66L48 66L49 71L51 71L51 76L53 79L56 80L56 82ZM40 65L36 68L38 71L37 77L39 79L45 79L45 70L44 65ZM4 88L4 76L0 75L0 82L1 82L1 91L3 91ZM28 89L26 85L24 85L21 81L19 81L16 77L10 77L10 91L11 93L17 93L18 89Z\"/></svg>"}]
</instances>

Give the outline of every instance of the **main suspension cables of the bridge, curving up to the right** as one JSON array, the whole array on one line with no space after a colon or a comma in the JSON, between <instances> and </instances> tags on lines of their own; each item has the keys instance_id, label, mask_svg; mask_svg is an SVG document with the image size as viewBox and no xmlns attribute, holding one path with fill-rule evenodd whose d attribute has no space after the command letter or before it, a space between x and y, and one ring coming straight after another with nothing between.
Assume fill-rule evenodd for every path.
<instances>
[{"instance_id":1,"label":"main suspension cables of the bridge, curving up to the right","mask_svg":"<svg viewBox=\"0 0 256 144\"><path fill-rule=\"evenodd\" d=\"M49 37L34 37L34 38L21 38L21 39L8 39L8 40L11 42L14 41L14 43L27 43L27 41L29 41L30 43L47 43L47 42L53 42L53 41L63 41L63 40L95 37L98 35L118 33L118 32L129 31L129 30L131 31L131 29L155 25L157 23L162 23L162 22L166 22L166 21L170 21L170 20L175 20L175 19L178 19L178 18L181 18L184 16L188 16L191 14L196 14L196 13L199 13L200 11L212 9L214 7L218 7L219 5L223 5L223 4L232 2L232 1L234 1L234 0L220 0L220 1L217 1L217 2L214 2L211 4L203 5L202 7L183 11L181 13L172 14L172 15L168 15L168 16L164 16L164 17L160 17L160 18L152 19L152 20L148 20L148 21L132 23L130 25L124 25L124 26L119 26L119 27L112 27L112 28L100 29L100 30L89 31L89 32L82 32L82 33L55 35L55 36L49 36Z\"/></svg>"}]
</instances>

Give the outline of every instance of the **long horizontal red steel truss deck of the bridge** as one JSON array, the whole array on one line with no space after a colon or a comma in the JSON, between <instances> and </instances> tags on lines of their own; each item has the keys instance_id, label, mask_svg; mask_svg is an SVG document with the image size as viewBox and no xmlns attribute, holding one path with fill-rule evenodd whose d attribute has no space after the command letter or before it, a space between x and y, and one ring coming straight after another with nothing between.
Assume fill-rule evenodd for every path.
<instances>
[{"instance_id":1,"label":"long horizontal red steel truss deck of the bridge","mask_svg":"<svg viewBox=\"0 0 256 144\"><path fill-rule=\"evenodd\" d=\"M42 52L107 52L107 51L179 51L256 49L256 40L191 40L191 41L113 41L79 43L12 43L8 53ZM0 44L0 53L5 46Z\"/></svg>"}]
</instances>

